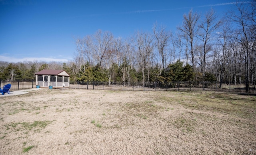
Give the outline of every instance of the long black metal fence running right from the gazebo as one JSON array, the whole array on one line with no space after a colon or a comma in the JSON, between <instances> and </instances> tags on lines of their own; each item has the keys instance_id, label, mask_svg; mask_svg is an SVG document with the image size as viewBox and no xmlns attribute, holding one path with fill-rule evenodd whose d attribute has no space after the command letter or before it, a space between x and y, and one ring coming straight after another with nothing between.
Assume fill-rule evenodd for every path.
<instances>
[{"instance_id":1,"label":"long black metal fence running right from the gazebo","mask_svg":"<svg viewBox=\"0 0 256 155\"><path fill-rule=\"evenodd\" d=\"M255 81L250 83L246 91L245 82L220 83L217 81L173 81L173 82L145 82L143 83L108 83L96 81L76 81L70 83L70 88L101 89L122 91L224 91L230 93L256 94Z\"/></svg>"}]
</instances>

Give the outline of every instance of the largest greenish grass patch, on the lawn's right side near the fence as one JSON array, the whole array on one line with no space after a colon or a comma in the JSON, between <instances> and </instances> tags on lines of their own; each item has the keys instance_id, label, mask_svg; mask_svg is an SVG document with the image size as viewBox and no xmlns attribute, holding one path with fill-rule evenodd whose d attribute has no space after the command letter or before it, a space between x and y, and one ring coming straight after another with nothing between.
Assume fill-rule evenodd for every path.
<instances>
[{"instance_id":1,"label":"largest greenish grass patch, on the lawn's right side near the fence","mask_svg":"<svg viewBox=\"0 0 256 155\"><path fill-rule=\"evenodd\" d=\"M190 109L208 110L236 115L242 118L256 117L256 97L212 91L172 92L171 97L158 95L158 101L186 106Z\"/></svg>"}]
</instances>

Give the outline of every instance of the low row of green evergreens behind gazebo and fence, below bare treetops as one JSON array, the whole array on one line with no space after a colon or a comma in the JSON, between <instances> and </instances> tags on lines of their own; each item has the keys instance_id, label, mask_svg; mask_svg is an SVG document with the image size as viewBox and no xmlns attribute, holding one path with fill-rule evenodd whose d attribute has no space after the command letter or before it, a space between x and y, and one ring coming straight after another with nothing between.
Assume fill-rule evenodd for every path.
<instances>
[{"instance_id":1,"label":"low row of green evergreens behind gazebo and fence, below bare treetops","mask_svg":"<svg viewBox=\"0 0 256 155\"><path fill-rule=\"evenodd\" d=\"M65 70L70 75L71 81L109 81L108 72L110 72L110 77L112 77L111 82L130 85L130 83L142 81L142 72L137 72L134 68L130 68L130 72L128 74L122 73L124 72L122 69L124 66L128 66L128 64L122 64L121 66L112 64L113 67L109 71L106 68L101 68L99 65L91 66L87 63L81 67L81 70L75 72L73 70L76 68L76 66L74 66L74 62L68 62L68 65L60 62L54 62L54 65L52 65L52 63L53 62L0 62L0 79L31 80L35 79L35 72L41 70ZM162 74L160 75L157 66L150 68L150 70L145 70L145 72L148 75L147 81L191 81L194 79L192 66L189 64L184 66L183 62L180 61L168 65L168 67L162 71ZM214 80L214 76L212 75L209 80Z\"/></svg>"}]
</instances>

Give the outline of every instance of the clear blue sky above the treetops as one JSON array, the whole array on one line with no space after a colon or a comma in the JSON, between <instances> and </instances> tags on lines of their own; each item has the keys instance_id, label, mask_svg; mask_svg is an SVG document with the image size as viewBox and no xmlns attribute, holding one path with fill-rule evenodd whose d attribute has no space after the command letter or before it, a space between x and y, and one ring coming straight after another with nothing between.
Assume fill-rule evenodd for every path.
<instances>
[{"instance_id":1,"label":"clear blue sky above the treetops","mask_svg":"<svg viewBox=\"0 0 256 155\"><path fill-rule=\"evenodd\" d=\"M154 22L176 31L190 9L219 16L236 0L0 0L0 61L73 60L75 39L99 29L126 38L152 32ZM242 2L242 1L240 1Z\"/></svg>"}]
</instances>

